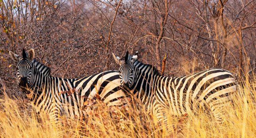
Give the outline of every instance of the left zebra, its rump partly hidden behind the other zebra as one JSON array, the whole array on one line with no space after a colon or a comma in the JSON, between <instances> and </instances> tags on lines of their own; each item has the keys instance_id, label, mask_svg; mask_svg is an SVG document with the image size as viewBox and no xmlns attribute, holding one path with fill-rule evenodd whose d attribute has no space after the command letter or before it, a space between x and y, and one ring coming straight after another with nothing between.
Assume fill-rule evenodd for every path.
<instances>
[{"instance_id":1,"label":"left zebra, its rump partly hidden behind the other zebra","mask_svg":"<svg viewBox=\"0 0 256 138\"><path fill-rule=\"evenodd\" d=\"M58 121L59 114L76 118L86 116L85 101L99 95L107 106L121 106L125 103L125 93L120 87L118 71L102 73L82 78L58 78L50 75L50 68L34 59L34 49L23 49L22 57L9 51L17 62L17 82L19 89L30 96L36 113L48 112L50 119ZM29 97L28 96L28 97Z\"/></svg>"}]
</instances>

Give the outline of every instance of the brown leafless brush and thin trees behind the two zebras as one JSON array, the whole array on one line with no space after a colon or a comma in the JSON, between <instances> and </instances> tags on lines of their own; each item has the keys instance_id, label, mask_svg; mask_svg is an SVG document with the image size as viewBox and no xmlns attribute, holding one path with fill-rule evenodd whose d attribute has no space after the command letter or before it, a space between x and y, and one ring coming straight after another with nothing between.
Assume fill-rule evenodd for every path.
<instances>
[{"instance_id":1,"label":"brown leafless brush and thin trees behind the two zebras","mask_svg":"<svg viewBox=\"0 0 256 138\"><path fill-rule=\"evenodd\" d=\"M140 61L160 70L159 59L167 54L169 76L210 67L252 72L255 1L204 2L0 1L0 78L16 93L15 63L8 51L22 48L34 48L53 76L65 78L117 69L110 53L126 50L138 50Z\"/></svg>"}]
</instances>

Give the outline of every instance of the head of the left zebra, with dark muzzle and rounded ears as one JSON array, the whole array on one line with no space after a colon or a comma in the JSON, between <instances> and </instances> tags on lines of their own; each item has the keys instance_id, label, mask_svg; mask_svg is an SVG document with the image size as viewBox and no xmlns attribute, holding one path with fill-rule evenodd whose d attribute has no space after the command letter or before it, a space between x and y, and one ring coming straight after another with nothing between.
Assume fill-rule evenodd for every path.
<instances>
[{"instance_id":1,"label":"head of the left zebra, with dark muzzle and rounded ears","mask_svg":"<svg viewBox=\"0 0 256 138\"><path fill-rule=\"evenodd\" d=\"M33 84L33 69L32 69L32 60L34 58L35 52L34 49L25 51L22 50L22 57L14 54L12 51L9 51L11 59L17 62L17 78L19 89L21 91L27 91L29 87Z\"/></svg>"}]
</instances>

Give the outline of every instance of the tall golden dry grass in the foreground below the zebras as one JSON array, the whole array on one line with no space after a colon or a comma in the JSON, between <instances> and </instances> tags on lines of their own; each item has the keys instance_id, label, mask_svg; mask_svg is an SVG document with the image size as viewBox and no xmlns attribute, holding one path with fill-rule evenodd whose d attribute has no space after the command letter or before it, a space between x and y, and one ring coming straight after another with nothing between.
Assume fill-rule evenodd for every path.
<instances>
[{"instance_id":1,"label":"tall golden dry grass in the foreground below the zebras","mask_svg":"<svg viewBox=\"0 0 256 138\"><path fill-rule=\"evenodd\" d=\"M36 114L30 104L20 99L2 96L0 99L0 134L6 138L54 137L225 137L256 138L256 81L238 87L234 105L226 108L223 124L216 123L207 112L175 117L169 116L171 134L156 117L134 102L125 107L106 107L101 102L83 120L62 116L61 123L53 127L47 114ZM132 100L133 101L133 100Z\"/></svg>"}]
</instances>

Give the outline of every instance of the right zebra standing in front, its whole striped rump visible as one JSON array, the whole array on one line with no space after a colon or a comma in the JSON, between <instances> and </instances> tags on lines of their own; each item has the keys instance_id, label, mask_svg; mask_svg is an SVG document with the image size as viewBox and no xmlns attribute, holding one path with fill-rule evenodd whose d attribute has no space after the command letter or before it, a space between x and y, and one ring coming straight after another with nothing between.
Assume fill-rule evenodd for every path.
<instances>
[{"instance_id":1,"label":"right zebra standing in front, its whole striped rump visible","mask_svg":"<svg viewBox=\"0 0 256 138\"><path fill-rule=\"evenodd\" d=\"M223 122L224 107L231 103L237 87L229 71L212 68L187 76L162 76L153 65L137 61L138 52L133 56L127 52L124 59L112 54L120 65L121 86L129 88L159 121L167 123L167 110L182 116L206 106L218 123Z\"/></svg>"}]
</instances>

